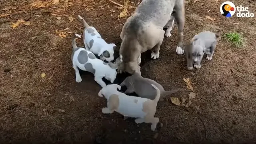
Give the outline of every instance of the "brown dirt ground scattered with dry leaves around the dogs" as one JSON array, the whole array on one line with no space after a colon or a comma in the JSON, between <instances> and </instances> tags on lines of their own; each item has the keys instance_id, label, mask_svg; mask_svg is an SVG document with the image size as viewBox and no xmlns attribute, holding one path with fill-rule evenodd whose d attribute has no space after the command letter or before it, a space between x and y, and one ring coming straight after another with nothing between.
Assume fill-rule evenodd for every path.
<instances>
[{"instance_id":1,"label":"brown dirt ground scattered with dry leaves around the dogs","mask_svg":"<svg viewBox=\"0 0 256 144\"><path fill-rule=\"evenodd\" d=\"M60 30L61 36L82 34L80 14L106 42L120 46L122 26L140 1L131 0L128 16L120 19L124 7L108 0L55 1L0 2L0 143L256 143L255 17L224 18L220 0L186 2L184 44L203 30L222 38L213 60L204 59L194 72L186 70L184 55L175 54L177 27L171 38L164 38L159 59L143 54L142 76L166 90L186 88L183 78L190 78L196 93L188 107L172 104L170 97L159 103L155 116L162 124L152 132L150 124L137 125L117 113L102 114L106 100L97 95L100 86L88 72L82 73L81 83L75 82L71 35L58 35ZM256 12L255 0L232 2ZM26 22L12 28L20 19ZM234 47L223 38L227 32L243 33L245 45ZM82 40L77 42L82 46ZM123 78L118 76L116 83Z\"/></svg>"}]
</instances>

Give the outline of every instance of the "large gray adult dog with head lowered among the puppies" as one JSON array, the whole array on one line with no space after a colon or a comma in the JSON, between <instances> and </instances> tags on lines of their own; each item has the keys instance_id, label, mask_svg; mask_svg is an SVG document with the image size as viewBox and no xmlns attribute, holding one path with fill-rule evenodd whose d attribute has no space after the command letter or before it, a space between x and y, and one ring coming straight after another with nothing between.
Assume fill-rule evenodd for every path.
<instances>
[{"instance_id":1,"label":"large gray adult dog with head lowered among the puppies","mask_svg":"<svg viewBox=\"0 0 256 144\"><path fill-rule=\"evenodd\" d=\"M159 58L159 50L165 33L163 28L171 20L173 11L175 11L174 18L178 24L176 53L183 54L184 0L142 0L122 28L120 34L122 65L118 71L133 74L138 67L140 54L149 49L153 50L151 58Z\"/></svg>"}]
</instances>

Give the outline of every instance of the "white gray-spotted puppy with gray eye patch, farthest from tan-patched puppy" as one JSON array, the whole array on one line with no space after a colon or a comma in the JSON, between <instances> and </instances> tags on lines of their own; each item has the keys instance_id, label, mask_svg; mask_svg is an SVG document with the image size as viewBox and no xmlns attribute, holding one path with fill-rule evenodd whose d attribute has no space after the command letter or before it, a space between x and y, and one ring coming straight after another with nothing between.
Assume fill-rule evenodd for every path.
<instances>
[{"instance_id":1,"label":"white gray-spotted puppy with gray eye patch, farthest from tan-patched puppy","mask_svg":"<svg viewBox=\"0 0 256 144\"><path fill-rule=\"evenodd\" d=\"M84 46L87 50L90 50L93 54L100 56L101 60L108 62L114 60L114 49L116 44L108 44L103 40L100 34L93 26L89 26L86 21L78 15L80 20L83 20L84 24Z\"/></svg>"}]
</instances>

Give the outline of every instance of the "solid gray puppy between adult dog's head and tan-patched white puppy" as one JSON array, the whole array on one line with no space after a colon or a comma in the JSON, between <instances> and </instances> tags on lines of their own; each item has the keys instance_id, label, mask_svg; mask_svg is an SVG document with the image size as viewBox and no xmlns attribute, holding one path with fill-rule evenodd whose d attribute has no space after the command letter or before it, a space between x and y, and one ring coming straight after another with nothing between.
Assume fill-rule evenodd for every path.
<instances>
[{"instance_id":1,"label":"solid gray puppy between adult dog's head and tan-patched white puppy","mask_svg":"<svg viewBox=\"0 0 256 144\"><path fill-rule=\"evenodd\" d=\"M128 76L120 86L126 86L127 90L125 94L130 94L135 92L139 97L148 98L154 100L156 97L156 89L152 87L154 84L160 90L160 101L167 95L178 92L180 89L165 91L161 84L158 84L156 81L149 78L143 78L140 73L135 72L132 76Z\"/></svg>"}]
</instances>

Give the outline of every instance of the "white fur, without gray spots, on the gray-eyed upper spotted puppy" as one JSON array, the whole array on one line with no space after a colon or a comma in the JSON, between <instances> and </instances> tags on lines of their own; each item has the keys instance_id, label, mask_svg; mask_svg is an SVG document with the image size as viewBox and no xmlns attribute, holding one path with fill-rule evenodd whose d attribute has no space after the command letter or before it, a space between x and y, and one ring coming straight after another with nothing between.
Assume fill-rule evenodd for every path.
<instances>
[{"instance_id":1,"label":"white fur, without gray spots, on the gray-eyed upper spotted puppy","mask_svg":"<svg viewBox=\"0 0 256 144\"><path fill-rule=\"evenodd\" d=\"M90 51L93 54L97 54L98 56L100 56L101 60L106 60L108 62L114 60L114 46L116 46L116 44L108 44L104 39L101 38L100 34L97 32L97 30L93 27L90 26L89 28L92 28L94 30L95 35L92 36L92 34L88 33L87 30L84 30L84 42L85 45L90 46L90 40L94 40L92 48L90 48ZM100 37L100 38L98 38ZM109 58L106 58L102 55L102 53L107 50L110 54Z\"/></svg>"}]
</instances>

